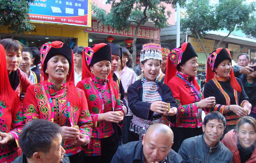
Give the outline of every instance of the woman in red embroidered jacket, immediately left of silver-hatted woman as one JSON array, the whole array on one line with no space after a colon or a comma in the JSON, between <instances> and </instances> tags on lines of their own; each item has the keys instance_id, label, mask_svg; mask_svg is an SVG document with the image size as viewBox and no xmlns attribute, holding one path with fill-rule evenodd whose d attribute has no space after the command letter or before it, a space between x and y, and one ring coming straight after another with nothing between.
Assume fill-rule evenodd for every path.
<instances>
[{"instance_id":1,"label":"woman in red embroidered jacket, immediately left of silver-hatted woman","mask_svg":"<svg viewBox=\"0 0 256 163\"><path fill-rule=\"evenodd\" d=\"M93 133L89 148L85 149L85 160L88 163L110 163L117 150L113 123L121 126L124 112L119 87L112 81L109 43L84 49L82 81L76 86L83 89L93 119ZM121 111L122 115L115 111Z\"/></svg>"}]
</instances>

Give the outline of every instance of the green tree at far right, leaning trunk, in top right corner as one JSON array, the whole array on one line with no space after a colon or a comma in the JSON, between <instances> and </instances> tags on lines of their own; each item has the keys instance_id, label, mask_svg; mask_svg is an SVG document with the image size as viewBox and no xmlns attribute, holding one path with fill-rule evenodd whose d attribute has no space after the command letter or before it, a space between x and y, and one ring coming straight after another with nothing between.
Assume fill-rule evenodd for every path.
<instances>
[{"instance_id":1,"label":"green tree at far right, leaning trunk, in top right corner","mask_svg":"<svg viewBox=\"0 0 256 163\"><path fill-rule=\"evenodd\" d=\"M215 6L215 15L219 29L228 30L228 35L221 39L217 48L236 28L241 29L247 26L250 15L254 10L254 2L248 5L245 0L223 0L222 3Z\"/></svg>"}]
</instances>

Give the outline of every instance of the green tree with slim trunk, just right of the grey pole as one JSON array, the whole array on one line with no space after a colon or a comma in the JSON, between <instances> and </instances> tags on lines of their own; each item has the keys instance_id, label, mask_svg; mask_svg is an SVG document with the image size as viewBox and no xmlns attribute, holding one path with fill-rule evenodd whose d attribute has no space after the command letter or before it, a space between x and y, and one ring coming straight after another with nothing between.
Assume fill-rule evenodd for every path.
<instances>
[{"instance_id":1,"label":"green tree with slim trunk, just right of the grey pole","mask_svg":"<svg viewBox=\"0 0 256 163\"><path fill-rule=\"evenodd\" d=\"M180 29L183 32L190 30L191 35L199 39L207 58L208 56L201 38L207 35L207 31L218 29L218 26L216 26L214 7L208 6L206 1L191 0L186 5L186 8L186 17L180 20Z\"/></svg>"}]
</instances>

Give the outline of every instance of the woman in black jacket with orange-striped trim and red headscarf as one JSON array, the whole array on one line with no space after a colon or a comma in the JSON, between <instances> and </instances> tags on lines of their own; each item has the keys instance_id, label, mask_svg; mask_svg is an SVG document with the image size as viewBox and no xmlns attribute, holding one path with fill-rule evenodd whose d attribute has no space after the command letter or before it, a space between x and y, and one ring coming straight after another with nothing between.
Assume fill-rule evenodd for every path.
<instances>
[{"instance_id":1,"label":"woman in black jacket with orange-striped trim and red headscarf","mask_svg":"<svg viewBox=\"0 0 256 163\"><path fill-rule=\"evenodd\" d=\"M227 48L216 49L207 61L204 97L215 96L216 105L211 107L211 111L219 111L226 118L225 135L236 127L240 117L250 114L252 105L248 102L241 81L234 76Z\"/></svg>"}]
</instances>

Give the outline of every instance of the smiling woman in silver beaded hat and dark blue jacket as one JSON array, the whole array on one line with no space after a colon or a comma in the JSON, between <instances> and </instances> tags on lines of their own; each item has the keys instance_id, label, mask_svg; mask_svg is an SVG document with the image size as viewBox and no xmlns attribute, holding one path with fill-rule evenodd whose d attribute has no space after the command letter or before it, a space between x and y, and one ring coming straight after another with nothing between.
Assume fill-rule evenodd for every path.
<instances>
[{"instance_id":1,"label":"smiling woman in silver beaded hat and dark blue jacket","mask_svg":"<svg viewBox=\"0 0 256 163\"><path fill-rule=\"evenodd\" d=\"M140 57L143 75L127 90L129 107L134 113L130 126L134 141L142 140L151 124L163 124L163 115L173 123L176 121L177 105L173 94L167 85L157 81L161 61L160 44L143 45Z\"/></svg>"}]
</instances>

